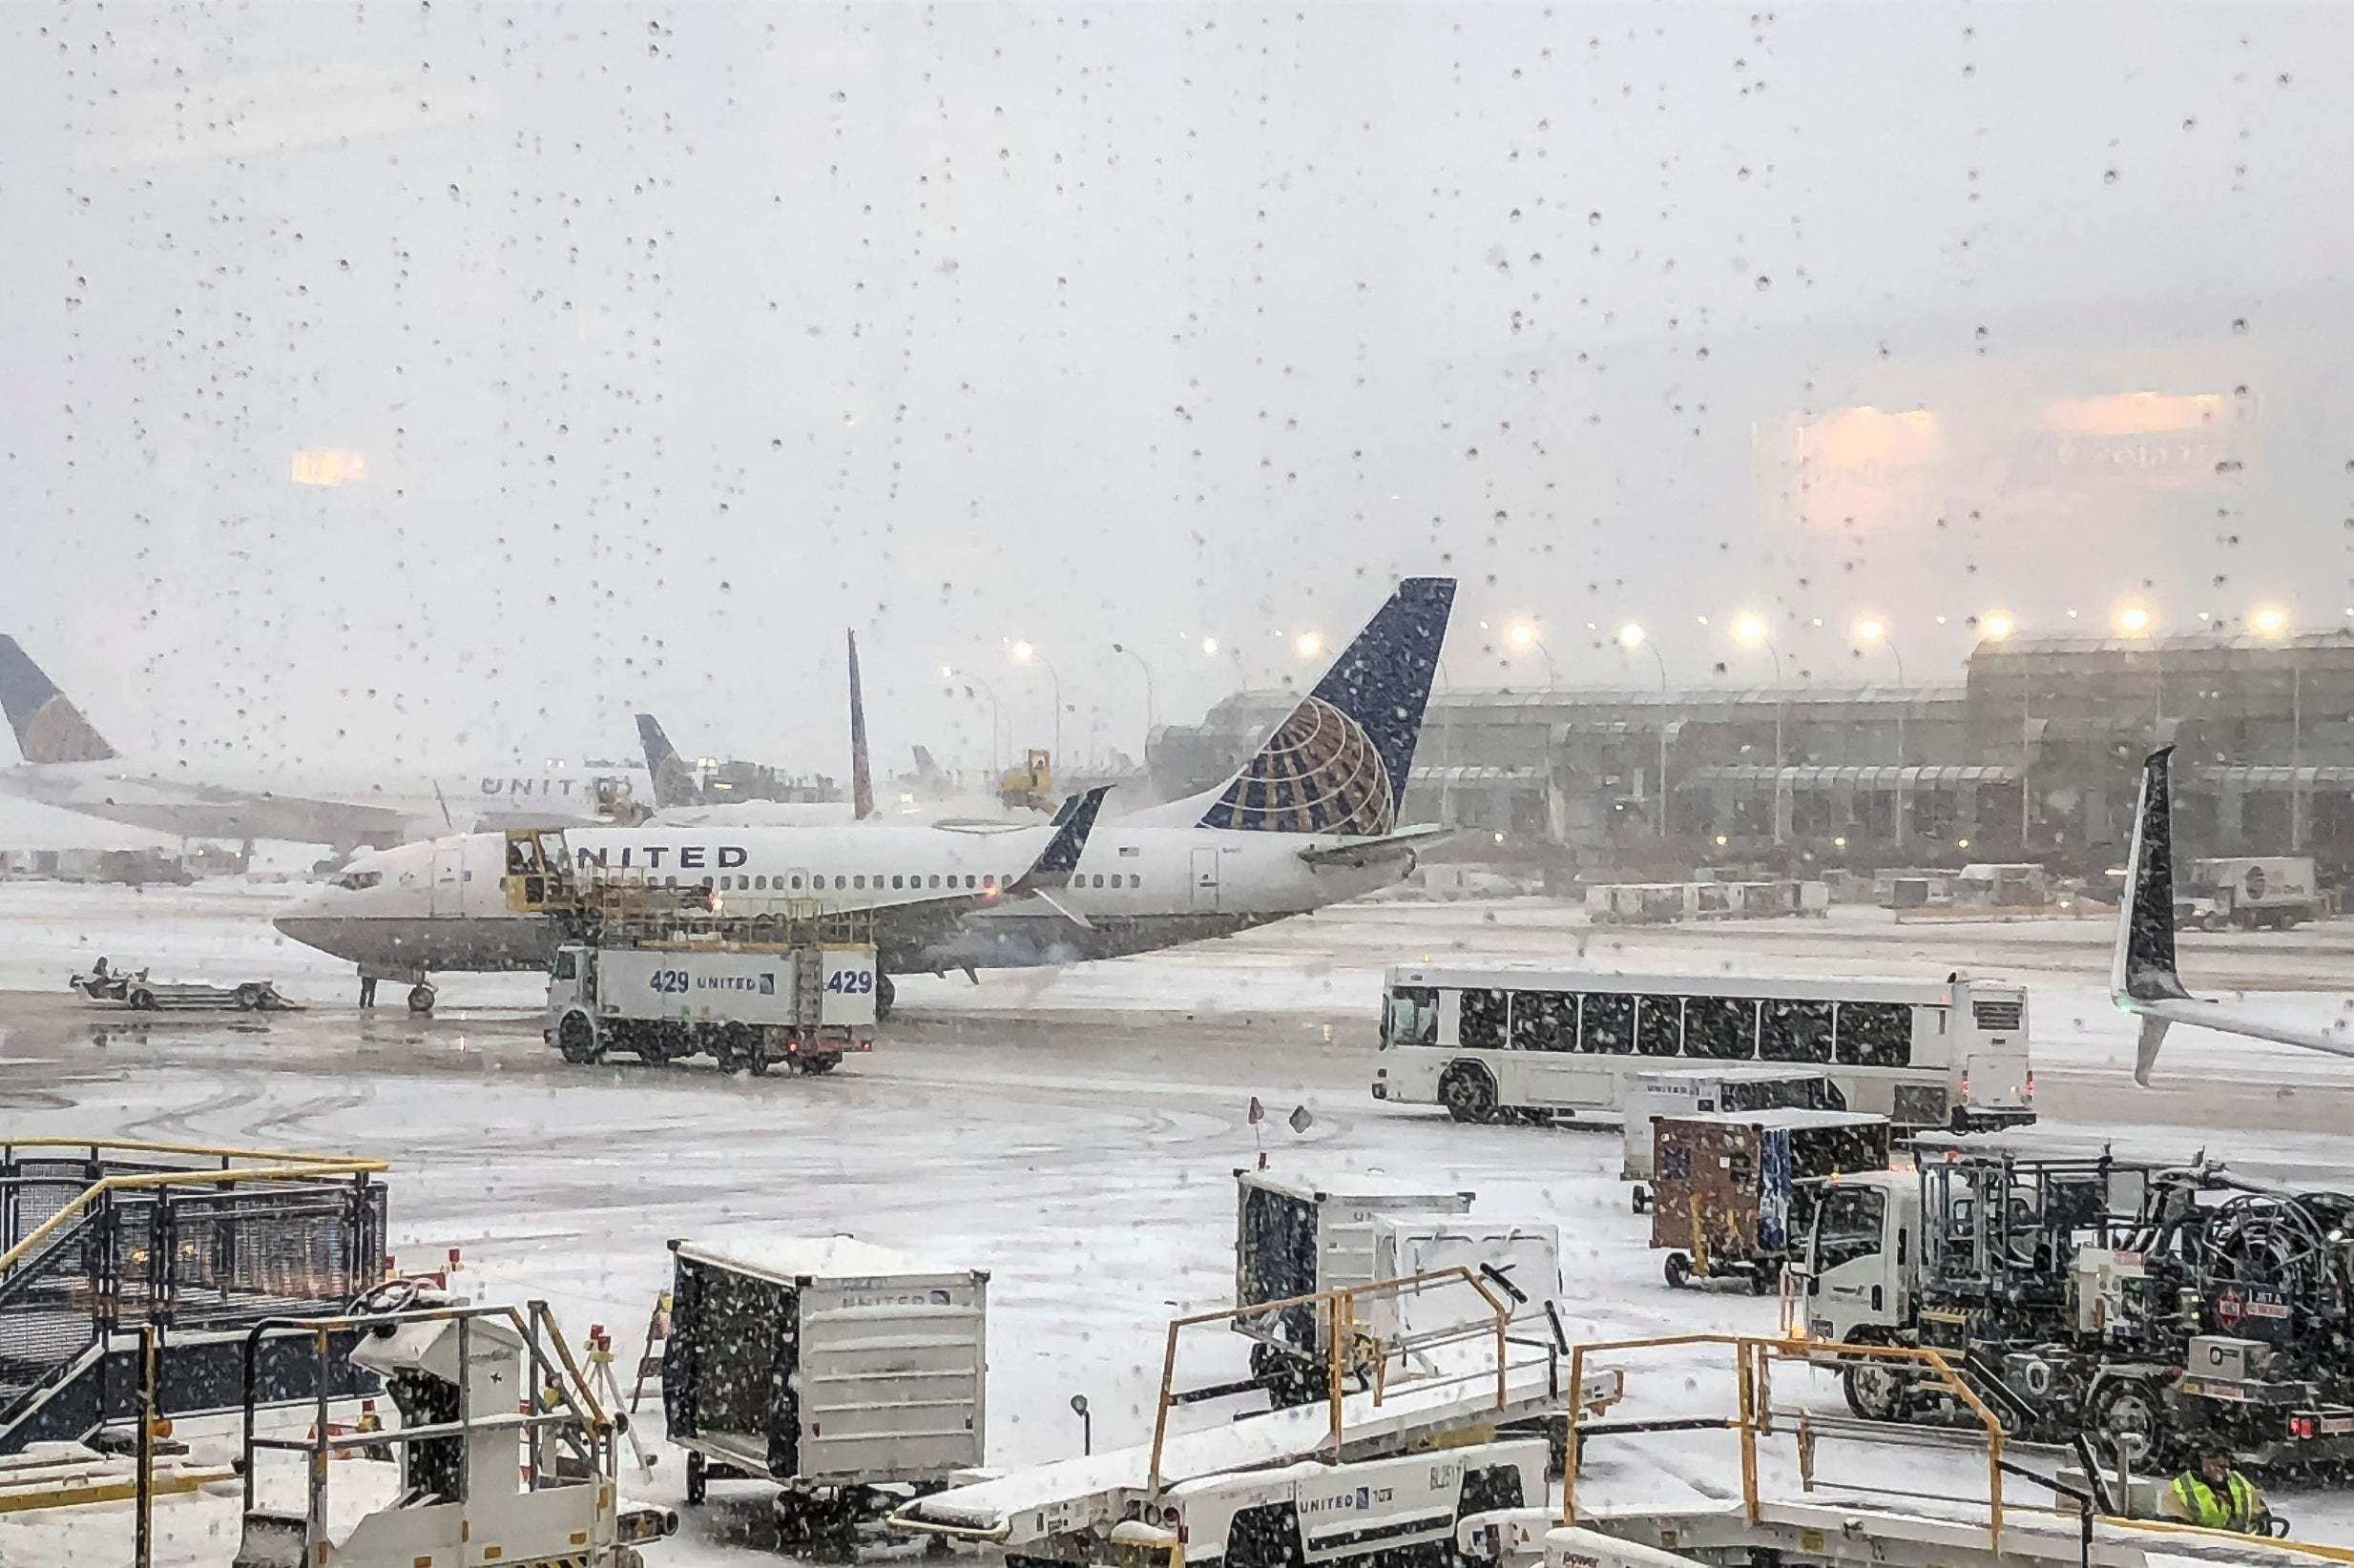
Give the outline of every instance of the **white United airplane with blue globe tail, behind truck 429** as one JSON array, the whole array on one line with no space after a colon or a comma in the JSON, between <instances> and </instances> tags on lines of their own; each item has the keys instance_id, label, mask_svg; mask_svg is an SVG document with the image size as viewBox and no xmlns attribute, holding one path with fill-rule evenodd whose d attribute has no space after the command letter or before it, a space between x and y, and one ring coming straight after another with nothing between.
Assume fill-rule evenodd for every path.
<instances>
[{"instance_id":1,"label":"white United airplane with blue globe tail, behind truck 429","mask_svg":"<svg viewBox=\"0 0 2354 1568\"><path fill-rule=\"evenodd\" d=\"M876 911L876 1003L892 972L1116 958L1222 937L1387 888L1445 833L1398 826L1398 803L1438 669L1452 577L1408 577L1226 782L1102 824L1071 881L996 897L963 918L909 921L909 895L1005 890L1043 829L1012 824L567 829L584 876L704 885L760 913L824 899ZM534 970L551 925L499 897L501 838L476 833L363 855L275 925L363 977L407 979L431 1010L435 972Z\"/></svg>"}]
</instances>

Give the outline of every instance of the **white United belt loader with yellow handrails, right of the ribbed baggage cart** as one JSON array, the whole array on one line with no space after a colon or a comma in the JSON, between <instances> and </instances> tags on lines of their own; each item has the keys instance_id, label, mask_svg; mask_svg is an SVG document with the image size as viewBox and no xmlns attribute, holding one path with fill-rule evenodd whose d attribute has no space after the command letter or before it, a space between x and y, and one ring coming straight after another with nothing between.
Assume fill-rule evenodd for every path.
<instances>
[{"instance_id":1,"label":"white United belt loader with yellow handrails, right of the ribbed baggage cart","mask_svg":"<svg viewBox=\"0 0 2354 1568\"><path fill-rule=\"evenodd\" d=\"M1469 1290L1488 1304L1485 1323L1450 1326L1438 1333L1384 1340L1365 1328L1370 1307L1417 1293ZM1177 1347L1189 1328L1231 1326L1243 1314L1304 1307L1325 1318L1325 1394L1314 1403L1281 1406L1243 1415L1222 1427L1172 1431L1179 1406L1241 1391L1250 1384L1177 1387ZM1370 1281L1304 1295L1290 1302L1257 1302L1172 1318L1161 1363L1153 1439L1076 1460L1031 1464L970 1486L918 1497L892 1514L892 1528L932 1540L986 1544L1010 1561L1153 1561L1161 1549L1184 1549L1186 1507L1201 1504L1233 1516L1259 1493L1264 1502L1288 1497L1297 1519L1314 1519L1323 1493L1346 1493L1354 1507L1379 1490L1408 1486L1405 1471L1387 1474L1412 1457L1410 1490L1424 1500L1410 1535L1358 1540L1363 1556L1391 1552L1429 1535L1448 1540L1459 1511L1476 1509L1497 1490L1525 1500L1542 1481L1547 1450L1558 1448L1556 1429L1580 1413L1601 1415L1624 1394L1622 1375L1594 1370L1565 1377L1563 1347L1514 1333L1514 1302L1469 1267L1448 1267L1408 1278ZM1457 1354L1481 1347L1485 1354ZM1436 1366L1434 1375L1391 1375L1391 1366ZM1368 1387L1349 1394L1346 1370L1365 1368ZM1570 1389L1577 1398L1570 1398ZM1514 1441L1518 1439L1518 1441ZM1445 1469L1448 1474L1438 1474ZM1375 1474L1384 1471L1384 1474ZM1535 1479L1532 1479L1535 1476ZM1330 1486L1346 1481L1346 1486ZM1262 1504L1264 1504L1262 1502ZM1492 1507L1492 1502L1490 1502ZM1198 1556L1198 1554L1196 1554ZM1323 1549L1321 1549L1323 1556Z\"/></svg>"}]
</instances>

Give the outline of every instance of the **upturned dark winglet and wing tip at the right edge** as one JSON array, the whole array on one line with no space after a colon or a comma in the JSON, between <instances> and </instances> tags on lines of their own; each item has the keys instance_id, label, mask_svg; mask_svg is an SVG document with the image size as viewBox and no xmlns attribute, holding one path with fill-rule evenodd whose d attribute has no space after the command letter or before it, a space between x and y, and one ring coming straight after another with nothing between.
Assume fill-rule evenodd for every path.
<instances>
[{"instance_id":1,"label":"upturned dark winglet and wing tip at the right edge","mask_svg":"<svg viewBox=\"0 0 2354 1568\"><path fill-rule=\"evenodd\" d=\"M2168 758L2161 746L2142 760L2142 796L2133 812L2133 852L2126 857L2126 899L2116 913L2116 949L2109 956L2109 1001L2142 1022L2133 1081L2149 1088L2170 1024L2196 1024L2274 1045L2354 1057L2354 1038L2335 1029L2298 1029L2248 1008L2203 1001L2182 986L2175 970L2175 852L2168 805Z\"/></svg>"}]
</instances>

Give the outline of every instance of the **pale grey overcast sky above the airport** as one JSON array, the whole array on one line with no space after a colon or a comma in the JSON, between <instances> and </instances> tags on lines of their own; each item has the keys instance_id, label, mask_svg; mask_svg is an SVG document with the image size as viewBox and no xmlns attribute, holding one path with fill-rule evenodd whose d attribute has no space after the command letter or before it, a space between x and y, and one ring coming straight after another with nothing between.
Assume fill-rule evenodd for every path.
<instances>
[{"instance_id":1,"label":"pale grey overcast sky above the airport","mask_svg":"<svg viewBox=\"0 0 2354 1568\"><path fill-rule=\"evenodd\" d=\"M895 765L986 760L944 664L1045 742L1012 638L1066 751L1135 751L1113 643L1193 720L1401 572L1464 577L1455 685L1535 678L1521 617L1697 683L1763 676L1742 607L1890 678L1876 612L1923 683L1991 607L2354 603L2338 5L0 28L7 629L127 751L494 765L652 706L840 772L843 626ZM2013 428L2128 393L2217 400L2149 447L2196 476ZM1801 494L1857 405L1935 452Z\"/></svg>"}]
</instances>

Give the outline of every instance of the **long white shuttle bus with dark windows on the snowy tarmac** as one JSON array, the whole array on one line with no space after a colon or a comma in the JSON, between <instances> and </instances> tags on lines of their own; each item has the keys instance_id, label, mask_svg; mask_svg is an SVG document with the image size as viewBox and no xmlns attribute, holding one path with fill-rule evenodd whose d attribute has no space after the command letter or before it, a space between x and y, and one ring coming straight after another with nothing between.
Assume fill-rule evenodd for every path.
<instances>
[{"instance_id":1,"label":"long white shuttle bus with dark windows on the snowy tarmac","mask_svg":"<svg viewBox=\"0 0 2354 1568\"><path fill-rule=\"evenodd\" d=\"M1372 1097L1455 1121L1620 1111L1629 1078L1681 1062L1820 1067L1897 1135L2036 1118L2027 989L1947 975L1747 979L1396 965Z\"/></svg>"}]
</instances>

